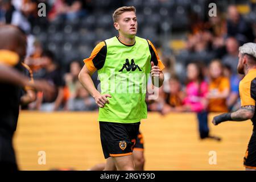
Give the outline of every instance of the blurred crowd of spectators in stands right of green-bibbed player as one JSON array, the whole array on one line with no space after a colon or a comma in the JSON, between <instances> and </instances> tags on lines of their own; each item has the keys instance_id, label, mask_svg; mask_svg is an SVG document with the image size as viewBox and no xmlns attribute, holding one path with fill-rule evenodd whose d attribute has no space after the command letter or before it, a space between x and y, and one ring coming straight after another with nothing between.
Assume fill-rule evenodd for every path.
<instances>
[{"instance_id":1,"label":"blurred crowd of spectators in stands right of green-bibbed player","mask_svg":"<svg viewBox=\"0 0 256 182\"><path fill-rule=\"evenodd\" d=\"M162 114L237 110L243 78L237 73L238 48L256 42L255 32L256 24L245 20L235 5L207 20L195 18L185 49L176 57L160 56L166 65L166 79L158 100L148 101L148 110ZM181 67L174 69L180 62Z\"/></svg>"}]
</instances>

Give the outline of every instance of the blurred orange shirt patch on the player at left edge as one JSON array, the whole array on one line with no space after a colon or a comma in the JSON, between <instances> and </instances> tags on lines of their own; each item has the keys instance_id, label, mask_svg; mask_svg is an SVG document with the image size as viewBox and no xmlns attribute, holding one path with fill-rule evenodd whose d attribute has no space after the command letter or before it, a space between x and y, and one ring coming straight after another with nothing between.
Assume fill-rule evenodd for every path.
<instances>
[{"instance_id":1,"label":"blurred orange shirt patch on the player at left edge","mask_svg":"<svg viewBox=\"0 0 256 182\"><path fill-rule=\"evenodd\" d=\"M19 62L19 55L13 51L0 50L0 64L14 67Z\"/></svg>"}]
</instances>

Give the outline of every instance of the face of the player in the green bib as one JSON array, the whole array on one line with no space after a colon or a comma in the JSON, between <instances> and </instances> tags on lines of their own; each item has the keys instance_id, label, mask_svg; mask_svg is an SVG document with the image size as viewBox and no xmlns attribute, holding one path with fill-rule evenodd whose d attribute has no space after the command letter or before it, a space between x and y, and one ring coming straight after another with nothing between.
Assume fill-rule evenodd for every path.
<instances>
[{"instance_id":1,"label":"face of the player in the green bib","mask_svg":"<svg viewBox=\"0 0 256 182\"><path fill-rule=\"evenodd\" d=\"M134 11L127 11L119 15L118 21L114 23L114 26L119 30L119 34L135 36L137 33L138 23Z\"/></svg>"}]
</instances>

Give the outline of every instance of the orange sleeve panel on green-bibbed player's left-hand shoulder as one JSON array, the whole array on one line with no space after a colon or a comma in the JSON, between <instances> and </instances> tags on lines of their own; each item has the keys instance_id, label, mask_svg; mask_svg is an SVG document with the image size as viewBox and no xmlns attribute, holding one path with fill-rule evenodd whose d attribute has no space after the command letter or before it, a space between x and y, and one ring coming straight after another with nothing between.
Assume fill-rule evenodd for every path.
<instances>
[{"instance_id":1,"label":"orange sleeve panel on green-bibbed player's left-hand shoulder","mask_svg":"<svg viewBox=\"0 0 256 182\"><path fill-rule=\"evenodd\" d=\"M93 59L97 56L98 52L100 52L101 48L104 46L106 46L105 42L98 43L97 46L93 49L92 53L90 54L90 57L87 59L84 59L84 63L86 65L86 67L92 73L97 70L97 68L93 64Z\"/></svg>"}]
</instances>

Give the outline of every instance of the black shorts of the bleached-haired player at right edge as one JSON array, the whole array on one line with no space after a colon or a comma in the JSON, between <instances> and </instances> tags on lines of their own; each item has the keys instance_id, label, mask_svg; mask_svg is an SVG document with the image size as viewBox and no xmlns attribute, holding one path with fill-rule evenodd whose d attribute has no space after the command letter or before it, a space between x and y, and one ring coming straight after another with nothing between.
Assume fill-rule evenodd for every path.
<instances>
[{"instance_id":1,"label":"black shorts of the bleached-haired player at right edge","mask_svg":"<svg viewBox=\"0 0 256 182\"><path fill-rule=\"evenodd\" d=\"M246 168L256 169L256 132L253 131L250 142L248 144L243 165Z\"/></svg>"}]
</instances>

